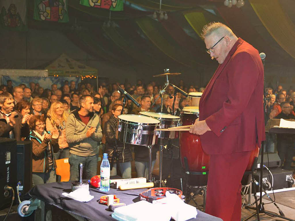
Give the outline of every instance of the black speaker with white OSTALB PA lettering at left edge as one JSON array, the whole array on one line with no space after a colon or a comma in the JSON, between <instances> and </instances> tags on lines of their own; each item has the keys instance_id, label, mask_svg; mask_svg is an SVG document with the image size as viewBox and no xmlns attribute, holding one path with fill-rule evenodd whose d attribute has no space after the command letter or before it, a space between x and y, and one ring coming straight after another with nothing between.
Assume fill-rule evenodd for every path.
<instances>
[{"instance_id":1,"label":"black speaker with white OSTALB PA lettering at left edge","mask_svg":"<svg viewBox=\"0 0 295 221\"><path fill-rule=\"evenodd\" d=\"M13 187L16 195L17 183L17 140L0 138L0 210L9 207L12 192L5 186Z\"/></svg>"}]
</instances>

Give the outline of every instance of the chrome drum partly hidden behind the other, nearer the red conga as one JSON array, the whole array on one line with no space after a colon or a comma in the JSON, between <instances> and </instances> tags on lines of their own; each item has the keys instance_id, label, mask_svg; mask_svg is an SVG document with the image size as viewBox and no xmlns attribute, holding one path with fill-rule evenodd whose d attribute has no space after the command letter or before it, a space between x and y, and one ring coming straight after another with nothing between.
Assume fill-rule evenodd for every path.
<instances>
[{"instance_id":1,"label":"chrome drum partly hidden behind the other, nearer the red conga","mask_svg":"<svg viewBox=\"0 0 295 221\"><path fill-rule=\"evenodd\" d=\"M141 115L149 116L161 121L159 129L165 129L169 127L177 127L180 123L180 117L166 113L154 113L148 111L139 112ZM176 138L177 131L157 131L158 138L173 139Z\"/></svg>"}]
</instances>

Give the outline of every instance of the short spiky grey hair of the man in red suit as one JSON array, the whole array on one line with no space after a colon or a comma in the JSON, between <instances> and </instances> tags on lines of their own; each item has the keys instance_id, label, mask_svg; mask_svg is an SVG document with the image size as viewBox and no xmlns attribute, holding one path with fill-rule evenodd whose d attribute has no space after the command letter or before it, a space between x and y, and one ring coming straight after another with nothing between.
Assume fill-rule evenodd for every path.
<instances>
[{"instance_id":1,"label":"short spiky grey hair of the man in red suit","mask_svg":"<svg viewBox=\"0 0 295 221\"><path fill-rule=\"evenodd\" d=\"M203 27L201 38L204 39L211 34L217 34L220 36L228 35L230 38L235 36L235 34L232 32L232 29L221 22L210 22L209 24L206 24Z\"/></svg>"}]
</instances>

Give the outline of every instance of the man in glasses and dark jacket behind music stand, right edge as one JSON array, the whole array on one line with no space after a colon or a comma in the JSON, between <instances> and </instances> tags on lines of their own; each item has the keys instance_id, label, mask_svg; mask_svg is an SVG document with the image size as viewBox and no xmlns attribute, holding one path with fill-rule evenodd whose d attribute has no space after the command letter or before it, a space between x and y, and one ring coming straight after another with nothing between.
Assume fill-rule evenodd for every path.
<instances>
[{"instance_id":1,"label":"man in glasses and dark jacket behind music stand, right edge","mask_svg":"<svg viewBox=\"0 0 295 221\"><path fill-rule=\"evenodd\" d=\"M291 105L289 102L282 102L282 112L275 118L285 120L295 120L294 114L291 113ZM283 169L290 170L293 156L295 154L295 136L289 134L277 134L278 156L281 159ZM285 161L285 162L284 162Z\"/></svg>"}]
</instances>

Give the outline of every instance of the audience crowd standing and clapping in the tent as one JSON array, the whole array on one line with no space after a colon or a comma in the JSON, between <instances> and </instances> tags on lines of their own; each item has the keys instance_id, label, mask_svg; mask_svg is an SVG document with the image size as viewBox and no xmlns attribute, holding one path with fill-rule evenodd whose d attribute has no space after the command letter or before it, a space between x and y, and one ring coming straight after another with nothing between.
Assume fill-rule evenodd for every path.
<instances>
[{"instance_id":1,"label":"audience crowd standing and clapping in the tent","mask_svg":"<svg viewBox=\"0 0 295 221\"><path fill-rule=\"evenodd\" d=\"M108 153L111 160L124 98L118 86L141 104L138 108L127 100L124 114L160 112L159 90L162 86L155 82L147 85L141 80L136 85L103 83L97 91L90 83L76 85L74 81L65 81L60 88L56 84L51 85L51 88L42 88L36 82L12 85L11 80L7 81L7 85L0 85L0 137L32 141L33 185L57 180L57 159L69 158L70 180L78 179L78 164L81 162L85 166L85 179L96 175L100 150ZM194 85L186 87L183 80L180 80L178 87L187 93L204 91L204 88ZM268 119L295 119L295 92L286 91L281 85L276 90L266 88L266 92L269 98L265 109ZM183 107L190 106L189 98L176 93L173 112L173 87L169 85L166 93L169 95L163 95L163 113L179 116ZM151 106L154 101L155 104ZM176 148L173 148L172 160L168 153L163 154L163 165L165 168L174 168L170 186L180 188L177 179L182 176L182 171L177 141L173 143ZM131 178L131 161L135 160L137 177L148 177L148 149L121 142L117 142L117 146L117 164L111 175L116 175L118 171L123 178ZM291 169L295 137L268 134L266 151L275 152L275 146L283 168ZM154 145L153 148L154 166L158 147ZM174 166L167 165L171 163ZM163 171L163 178L167 179L170 170Z\"/></svg>"}]
</instances>

